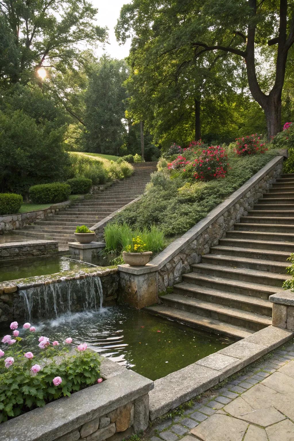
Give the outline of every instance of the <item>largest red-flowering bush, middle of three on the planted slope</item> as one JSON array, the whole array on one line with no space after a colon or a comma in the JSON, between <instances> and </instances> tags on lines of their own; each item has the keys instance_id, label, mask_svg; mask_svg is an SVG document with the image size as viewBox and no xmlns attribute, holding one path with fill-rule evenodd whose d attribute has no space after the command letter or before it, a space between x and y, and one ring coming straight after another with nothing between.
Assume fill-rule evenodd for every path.
<instances>
[{"instance_id":1,"label":"largest red-flowering bush, middle of three on the planted slope","mask_svg":"<svg viewBox=\"0 0 294 441\"><path fill-rule=\"evenodd\" d=\"M210 180L224 178L227 173L227 153L220 146L211 146L202 150L201 155L194 160L194 178Z\"/></svg>"}]
</instances>

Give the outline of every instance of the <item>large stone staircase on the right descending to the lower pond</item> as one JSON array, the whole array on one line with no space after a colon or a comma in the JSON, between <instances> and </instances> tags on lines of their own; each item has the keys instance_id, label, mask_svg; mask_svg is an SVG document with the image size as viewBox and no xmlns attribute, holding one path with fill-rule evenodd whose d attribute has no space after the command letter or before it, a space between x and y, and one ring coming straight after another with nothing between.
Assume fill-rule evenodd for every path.
<instances>
[{"instance_id":1,"label":"large stone staircase on the right descending to the lower pond","mask_svg":"<svg viewBox=\"0 0 294 441\"><path fill-rule=\"evenodd\" d=\"M219 245L192 265L150 313L245 338L272 324L268 297L281 289L294 252L294 174L282 175Z\"/></svg>"}]
</instances>

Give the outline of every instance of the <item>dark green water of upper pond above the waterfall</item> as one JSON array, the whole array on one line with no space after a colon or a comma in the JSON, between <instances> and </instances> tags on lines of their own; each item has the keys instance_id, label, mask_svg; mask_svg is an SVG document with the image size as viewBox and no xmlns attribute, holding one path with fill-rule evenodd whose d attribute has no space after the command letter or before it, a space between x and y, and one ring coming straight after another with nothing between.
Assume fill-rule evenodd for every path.
<instances>
[{"instance_id":1,"label":"dark green water of upper pond above the waterfall","mask_svg":"<svg viewBox=\"0 0 294 441\"><path fill-rule=\"evenodd\" d=\"M40 257L29 260L1 263L0 282L27 277L45 276L63 271L74 271L91 266L86 262L78 262L63 256Z\"/></svg>"}]
</instances>

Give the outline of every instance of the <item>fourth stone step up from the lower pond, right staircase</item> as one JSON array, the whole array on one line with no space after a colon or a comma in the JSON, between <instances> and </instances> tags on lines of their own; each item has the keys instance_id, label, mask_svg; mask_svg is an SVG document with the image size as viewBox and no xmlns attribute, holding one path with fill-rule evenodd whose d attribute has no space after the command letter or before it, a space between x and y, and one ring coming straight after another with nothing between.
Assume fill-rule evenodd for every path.
<instances>
[{"instance_id":1,"label":"fourth stone step up from the lower pond, right staircase","mask_svg":"<svg viewBox=\"0 0 294 441\"><path fill-rule=\"evenodd\" d=\"M268 299L271 294L277 292L276 286L244 282L241 280L236 281L226 277L209 276L207 274L194 272L183 274L182 279L184 282L205 286L206 288L220 289L221 291L229 291L237 294L253 295L253 297L261 297L261 299Z\"/></svg>"}]
</instances>

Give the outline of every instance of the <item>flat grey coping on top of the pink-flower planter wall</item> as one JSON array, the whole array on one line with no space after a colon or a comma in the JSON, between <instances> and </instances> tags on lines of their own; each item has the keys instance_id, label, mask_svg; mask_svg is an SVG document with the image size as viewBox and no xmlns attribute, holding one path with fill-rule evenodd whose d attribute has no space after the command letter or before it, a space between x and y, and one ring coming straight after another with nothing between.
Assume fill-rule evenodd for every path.
<instances>
[{"instance_id":1,"label":"flat grey coping on top of the pink-flower planter wall","mask_svg":"<svg viewBox=\"0 0 294 441\"><path fill-rule=\"evenodd\" d=\"M0 441L53 441L153 389L153 381L111 360L102 361L102 376L104 364L108 373L112 371L106 381L2 423Z\"/></svg>"}]
</instances>

